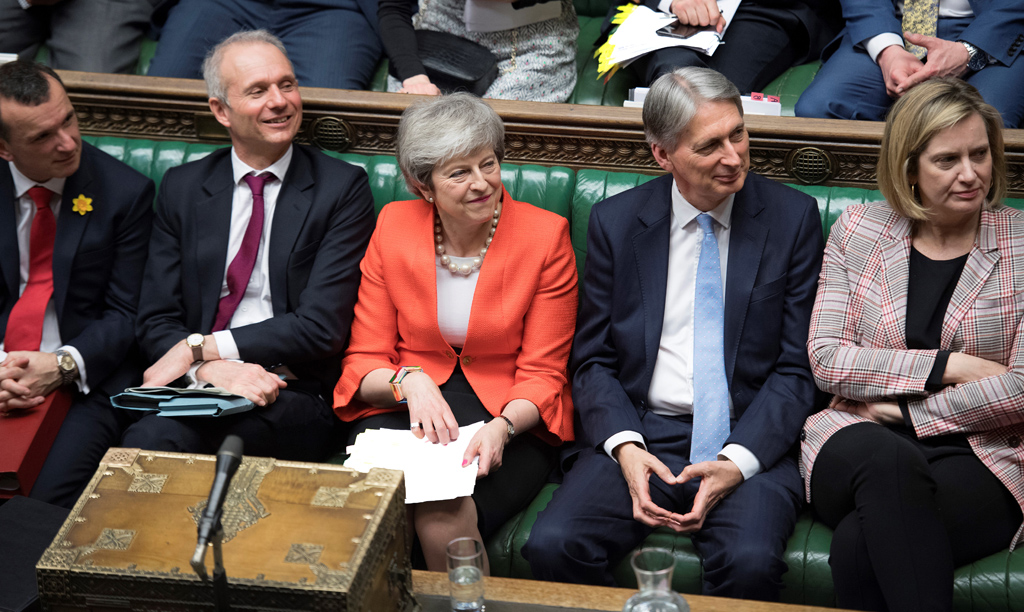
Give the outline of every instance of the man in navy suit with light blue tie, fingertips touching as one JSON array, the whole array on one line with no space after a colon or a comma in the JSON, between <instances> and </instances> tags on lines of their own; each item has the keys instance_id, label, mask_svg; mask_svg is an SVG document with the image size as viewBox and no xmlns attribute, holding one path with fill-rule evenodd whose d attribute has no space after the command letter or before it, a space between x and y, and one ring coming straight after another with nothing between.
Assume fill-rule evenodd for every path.
<instances>
[{"instance_id":1,"label":"man in navy suit with light blue tie, fingertips touching","mask_svg":"<svg viewBox=\"0 0 1024 612\"><path fill-rule=\"evenodd\" d=\"M817 206L748 173L739 92L722 75L662 77L643 118L671 174L591 213L582 432L523 556L541 579L611 584L611 566L669 527L691 535L705 595L777 600L802 497L791 451L815 400Z\"/></svg>"}]
</instances>

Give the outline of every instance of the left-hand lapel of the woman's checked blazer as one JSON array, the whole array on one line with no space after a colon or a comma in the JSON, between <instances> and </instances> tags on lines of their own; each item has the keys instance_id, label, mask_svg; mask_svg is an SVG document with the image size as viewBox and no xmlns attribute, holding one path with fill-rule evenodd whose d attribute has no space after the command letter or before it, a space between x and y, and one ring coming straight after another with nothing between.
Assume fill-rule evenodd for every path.
<instances>
[{"instance_id":1,"label":"left-hand lapel of the woman's checked blazer","mask_svg":"<svg viewBox=\"0 0 1024 612\"><path fill-rule=\"evenodd\" d=\"M906 290L910 280L910 221L892 215L893 224L881 233L882 327L889 345L906 349Z\"/></svg>"}]
</instances>

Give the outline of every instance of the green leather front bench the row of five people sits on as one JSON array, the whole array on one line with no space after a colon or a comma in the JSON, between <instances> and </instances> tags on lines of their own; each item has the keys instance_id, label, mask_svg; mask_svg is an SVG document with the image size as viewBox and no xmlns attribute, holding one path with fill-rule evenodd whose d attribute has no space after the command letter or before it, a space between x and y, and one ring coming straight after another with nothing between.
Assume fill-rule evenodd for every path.
<instances>
[{"instance_id":1,"label":"green leather front bench the row of five people sits on","mask_svg":"<svg viewBox=\"0 0 1024 612\"><path fill-rule=\"evenodd\" d=\"M126 138L93 138L85 140L99 146L115 158L159 182L172 166L200 159L223 145L186 144L182 142L135 140ZM335 155L360 166L370 177L374 203L379 211L388 202L407 200L404 181L394 158L388 156ZM654 177L632 173L581 170L562 167L516 166L502 167L502 180L516 200L529 202L569 219L577 265L581 273L587 256L587 222L590 209L605 198L630 189ZM800 186L818 202L822 228L828 227L851 204L881 200L878 191L857 188ZM1008 204L1024 209L1024 200ZM335 457L337 461L337 457ZM528 564L520 551L529 537L537 514L551 499L557 485L549 484L521 513L513 517L486 542L490 569L495 575L531 578ZM809 511L797 522L786 549L788 571L783 576L782 601L791 604L835 606L831 574L828 567L828 545L831 531L819 523ZM654 531L645 542L674 551L677 563L674 586L680 593L700 592L700 559L689 537L668 529ZM623 586L636 583L628 561L615 568L615 579ZM956 570L954 608L958 612L1024 610L1024 552L1004 551Z\"/></svg>"}]
</instances>

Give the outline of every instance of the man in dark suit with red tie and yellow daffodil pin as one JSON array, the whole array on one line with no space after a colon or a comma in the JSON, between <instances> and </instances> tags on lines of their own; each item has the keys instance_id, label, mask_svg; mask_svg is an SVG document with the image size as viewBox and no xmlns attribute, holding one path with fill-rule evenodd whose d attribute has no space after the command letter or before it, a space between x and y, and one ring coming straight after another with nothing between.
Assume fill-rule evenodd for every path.
<instances>
[{"instance_id":1,"label":"man in dark suit with red tie and yellow daffodil pin","mask_svg":"<svg viewBox=\"0 0 1024 612\"><path fill-rule=\"evenodd\" d=\"M106 450L98 434L127 425L102 406L141 377L153 181L84 144L59 78L27 61L0 67L0 412L74 394L32 491L70 505Z\"/></svg>"}]
</instances>

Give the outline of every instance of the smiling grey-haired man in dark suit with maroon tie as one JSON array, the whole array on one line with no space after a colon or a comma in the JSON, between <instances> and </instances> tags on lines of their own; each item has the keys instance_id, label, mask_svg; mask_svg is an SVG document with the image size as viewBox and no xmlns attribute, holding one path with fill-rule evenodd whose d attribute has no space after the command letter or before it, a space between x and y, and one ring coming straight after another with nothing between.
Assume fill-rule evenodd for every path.
<instances>
[{"instance_id":1,"label":"smiling grey-haired man in dark suit with maroon tie","mask_svg":"<svg viewBox=\"0 0 1024 612\"><path fill-rule=\"evenodd\" d=\"M123 445L323 460L374 226L366 173L293 144L302 98L281 42L242 32L204 64L210 108L231 148L167 172L139 304L145 385L184 377L243 395L222 419L145 417Z\"/></svg>"}]
</instances>

